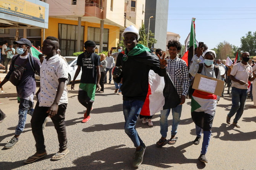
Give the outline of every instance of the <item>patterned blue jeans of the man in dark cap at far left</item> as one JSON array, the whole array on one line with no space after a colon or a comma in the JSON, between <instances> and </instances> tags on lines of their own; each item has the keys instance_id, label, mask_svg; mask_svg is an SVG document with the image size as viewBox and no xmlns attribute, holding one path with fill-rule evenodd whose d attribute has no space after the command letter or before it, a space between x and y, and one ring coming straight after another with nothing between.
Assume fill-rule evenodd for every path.
<instances>
[{"instance_id":1,"label":"patterned blue jeans of the man in dark cap at far left","mask_svg":"<svg viewBox=\"0 0 256 170\"><path fill-rule=\"evenodd\" d=\"M25 124L26 124L26 119L27 119L27 114L33 115L34 109L33 109L33 102L30 100L26 100L21 98L20 103L19 103L19 122L18 126L16 127L15 130L15 135L20 135L21 132L24 130Z\"/></svg>"}]
</instances>

